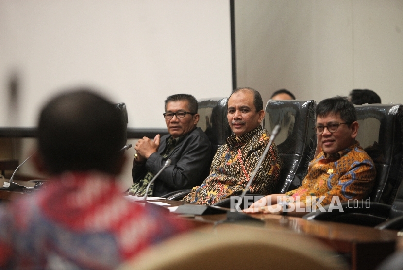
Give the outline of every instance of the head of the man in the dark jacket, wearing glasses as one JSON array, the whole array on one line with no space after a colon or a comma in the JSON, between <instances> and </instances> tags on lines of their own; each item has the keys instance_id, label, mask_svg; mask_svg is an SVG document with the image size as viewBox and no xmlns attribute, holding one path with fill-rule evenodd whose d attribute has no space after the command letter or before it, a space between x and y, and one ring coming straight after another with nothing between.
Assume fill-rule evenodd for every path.
<instances>
[{"instance_id":1,"label":"head of the man in the dark jacket, wearing glasses","mask_svg":"<svg viewBox=\"0 0 403 270\"><path fill-rule=\"evenodd\" d=\"M173 138L192 131L199 122L198 104L195 97L188 94L176 94L165 100L165 123Z\"/></svg>"}]
</instances>

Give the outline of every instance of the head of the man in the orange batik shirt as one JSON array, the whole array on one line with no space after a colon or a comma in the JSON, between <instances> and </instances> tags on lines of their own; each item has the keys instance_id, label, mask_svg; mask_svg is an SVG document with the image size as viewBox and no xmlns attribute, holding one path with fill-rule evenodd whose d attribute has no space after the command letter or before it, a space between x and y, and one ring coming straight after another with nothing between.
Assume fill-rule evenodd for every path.
<instances>
[{"instance_id":1,"label":"head of the man in the orange batik shirt","mask_svg":"<svg viewBox=\"0 0 403 270\"><path fill-rule=\"evenodd\" d=\"M316 106L315 129L323 152L333 154L350 147L358 133L353 104L340 96L320 101Z\"/></svg>"}]
</instances>

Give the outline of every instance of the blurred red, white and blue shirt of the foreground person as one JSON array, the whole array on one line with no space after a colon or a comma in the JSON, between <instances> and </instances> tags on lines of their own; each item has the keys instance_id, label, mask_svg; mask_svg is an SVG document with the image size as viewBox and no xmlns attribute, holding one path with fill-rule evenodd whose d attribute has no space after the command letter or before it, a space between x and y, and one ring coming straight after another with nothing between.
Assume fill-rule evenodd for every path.
<instances>
[{"instance_id":1,"label":"blurred red, white and blue shirt of the foreground person","mask_svg":"<svg viewBox=\"0 0 403 270\"><path fill-rule=\"evenodd\" d=\"M127 201L109 176L65 173L0 208L0 269L115 269L187 226Z\"/></svg>"}]
</instances>

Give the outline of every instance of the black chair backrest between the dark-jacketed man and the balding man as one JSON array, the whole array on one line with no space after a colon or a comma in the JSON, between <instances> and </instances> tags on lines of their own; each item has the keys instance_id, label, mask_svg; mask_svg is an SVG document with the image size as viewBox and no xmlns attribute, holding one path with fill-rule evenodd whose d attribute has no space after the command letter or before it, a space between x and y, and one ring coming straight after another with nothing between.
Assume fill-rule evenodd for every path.
<instances>
[{"instance_id":1,"label":"black chair backrest between the dark-jacketed man and the balding man","mask_svg":"<svg viewBox=\"0 0 403 270\"><path fill-rule=\"evenodd\" d=\"M227 120L227 101L228 98L211 98L198 101L200 120L197 126L209 137L213 146L213 155L232 134Z\"/></svg>"}]
</instances>

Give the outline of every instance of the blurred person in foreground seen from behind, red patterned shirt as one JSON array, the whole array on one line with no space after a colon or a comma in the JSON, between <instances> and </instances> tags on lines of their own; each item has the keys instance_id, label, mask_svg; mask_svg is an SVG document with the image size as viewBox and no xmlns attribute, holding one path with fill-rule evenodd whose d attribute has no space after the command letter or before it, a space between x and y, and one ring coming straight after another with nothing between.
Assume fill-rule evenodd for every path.
<instances>
[{"instance_id":1,"label":"blurred person in foreground seen from behind, red patterned shirt","mask_svg":"<svg viewBox=\"0 0 403 270\"><path fill-rule=\"evenodd\" d=\"M115 176L125 143L120 112L90 91L45 105L33 158L49 182L0 209L1 269L114 269L188 228L159 207L123 198Z\"/></svg>"}]
</instances>

